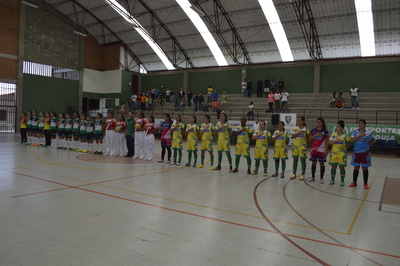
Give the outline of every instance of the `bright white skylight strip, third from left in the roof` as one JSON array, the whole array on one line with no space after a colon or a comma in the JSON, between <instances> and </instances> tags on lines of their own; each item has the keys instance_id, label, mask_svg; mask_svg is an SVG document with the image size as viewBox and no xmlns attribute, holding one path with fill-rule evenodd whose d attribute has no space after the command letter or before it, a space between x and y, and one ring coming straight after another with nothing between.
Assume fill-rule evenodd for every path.
<instances>
[{"instance_id":1,"label":"bright white skylight strip, third from left in the roof","mask_svg":"<svg viewBox=\"0 0 400 266\"><path fill-rule=\"evenodd\" d=\"M272 35L275 38L282 61L294 61L292 50L290 49L289 41L286 37L278 12L272 0L258 0L264 12L264 16L268 21Z\"/></svg>"}]
</instances>

